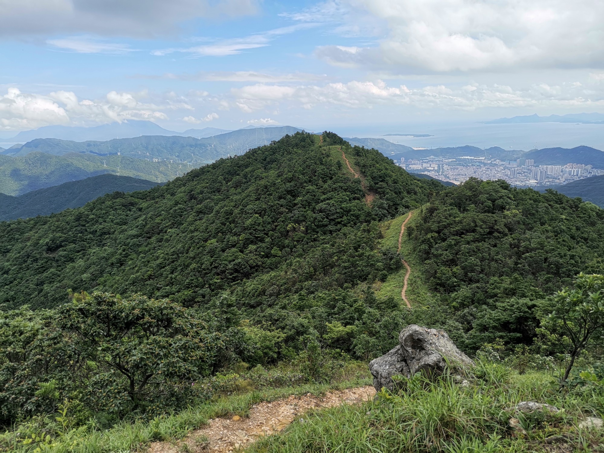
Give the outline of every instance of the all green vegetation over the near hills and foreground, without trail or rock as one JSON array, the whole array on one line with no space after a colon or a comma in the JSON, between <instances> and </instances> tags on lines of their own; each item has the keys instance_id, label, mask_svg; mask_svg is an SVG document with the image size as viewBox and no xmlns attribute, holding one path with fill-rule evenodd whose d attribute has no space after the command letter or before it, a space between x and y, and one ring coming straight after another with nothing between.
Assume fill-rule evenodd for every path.
<instances>
[{"instance_id":1,"label":"all green vegetation over the near hills and foreground, without trail or rock","mask_svg":"<svg viewBox=\"0 0 604 453\"><path fill-rule=\"evenodd\" d=\"M577 425L604 414L604 277L575 275L604 273L602 237L591 203L504 181L445 187L329 132L1 222L12 428L0 446L175 441L281 392L367 384L367 361L420 324L477 358L467 385L402 378L400 392L304 415L251 451L543 451L550 437L597 451L602 436ZM525 399L565 411L521 416L519 431Z\"/></svg>"}]
</instances>

